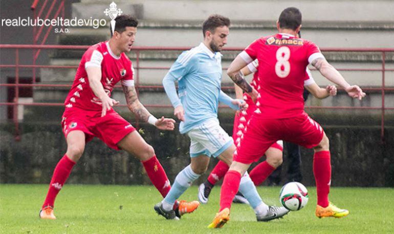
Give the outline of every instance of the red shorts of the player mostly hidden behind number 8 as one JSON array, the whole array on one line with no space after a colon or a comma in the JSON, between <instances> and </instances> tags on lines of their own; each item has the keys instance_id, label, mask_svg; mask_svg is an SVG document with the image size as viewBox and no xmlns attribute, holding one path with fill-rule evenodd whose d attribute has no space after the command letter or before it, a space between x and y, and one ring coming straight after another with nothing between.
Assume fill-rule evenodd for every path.
<instances>
[{"instance_id":1,"label":"red shorts of the player mostly hidden behind number 8","mask_svg":"<svg viewBox=\"0 0 394 234\"><path fill-rule=\"evenodd\" d=\"M256 110L256 104L254 104L254 102L250 98L246 100L246 103L248 104L248 108L246 110L239 111L239 113L235 114L234 117L232 137L235 145L238 145L243 138L245 127L247 126L253 112ZM276 148L283 152L283 143L279 144L277 142L274 142L274 144L272 144L270 147ZM264 155L264 153L261 154L261 156L262 155Z\"/></svg>"}]
</instances>

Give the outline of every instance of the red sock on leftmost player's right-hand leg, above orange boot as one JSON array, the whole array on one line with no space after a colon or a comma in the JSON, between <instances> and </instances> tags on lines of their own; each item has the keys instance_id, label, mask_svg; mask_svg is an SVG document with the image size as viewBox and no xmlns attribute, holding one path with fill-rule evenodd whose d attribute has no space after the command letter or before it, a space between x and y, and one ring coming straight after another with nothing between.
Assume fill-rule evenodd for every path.
<instances>
[{"instance_id":1,"label":"red sock on leftmost player's right-hand leg, above orange boot","mask_svg":"<svg viewBox=\"0 0 394 234\"><path fill-rule=\"evenodd\" d=\"M150 181L152 181L156 189L159 190L160 194L165 197L170 191L171 185L156 155L146 161L141 162L142 165L144 165L146 174L148 175Z\"/></svg>"}]
</instances>

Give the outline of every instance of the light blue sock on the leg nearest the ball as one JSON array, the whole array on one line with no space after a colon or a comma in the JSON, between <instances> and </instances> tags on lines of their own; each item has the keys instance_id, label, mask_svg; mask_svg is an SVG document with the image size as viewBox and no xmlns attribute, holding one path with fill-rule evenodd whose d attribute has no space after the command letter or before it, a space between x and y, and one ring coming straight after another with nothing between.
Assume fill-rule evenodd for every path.
<instances>
[{"instance_id":1,"label":"light blue sock on the leg nearest the ball","mask_svg":"<svg viewBox=\"0 0 394 234\"><path fill-rule=\"evenodd\" d=\"M264 202L262 202L260 195L258 195L256 186L254 186L254 183L250 179L248 172L245 172L244 176L241 178L239 183L239 192L241 192L249 201L253 209L256 209L257 207L260 209L261 204L267 206Z\"/></svg>"}]
</instances>

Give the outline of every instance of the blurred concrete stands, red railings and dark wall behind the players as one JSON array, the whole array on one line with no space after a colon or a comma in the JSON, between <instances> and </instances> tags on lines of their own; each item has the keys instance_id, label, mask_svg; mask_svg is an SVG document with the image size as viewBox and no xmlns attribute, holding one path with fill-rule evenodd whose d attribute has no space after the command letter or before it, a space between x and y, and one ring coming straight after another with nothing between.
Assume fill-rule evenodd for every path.
<instances>
[{"instance_id":1,"label":"blurred concrete stands, red railings and dark wall behind the players","mask_svg":"<svg viewBox=\"0 0 394 234\"><path fill-rule=\"evenodd\" d=\"M66 149L61 132L62 102L89 45L110 38L112 1L1 0L0 18L0 182L48 183ZM223 68L248 44L276 33L276 20L287 7L302 12L302 37L319 45L326 59L367 96L352 100L309 97L305 110L331 141L333 186L394 186L394 1L115 1L124 14L140 21L136 42L127 54L136 70L140 101L156 116L171 118L173 108L161 85L183 51L203 40L202 22L210 14L231 19ZM7 26L7 19L105 19L104 27ZM226 49L225 47L225 49ZM312 69L312 68L311 68ZM312 69L321 87L330 82ZM234 97L223 73L223 90ZM154 146L168 177L189 162L189 139L139 123L124 106L120 87L113 97L126 120ZM220 108L219 118L232 134L234 112ZM283 168L287 167L286 150ZM301 150L303 183L314 185L312 150ZM264 160L264 157L262 158ZM212 160L211 167L216 163ZM208 175L208 173L207 173ZM206 175L206 176L207 176ZM198 182L206 177L202 176ZM69 183L150 184L140 162L95 139L71 174Z\"/></svg>"}]
</instances>

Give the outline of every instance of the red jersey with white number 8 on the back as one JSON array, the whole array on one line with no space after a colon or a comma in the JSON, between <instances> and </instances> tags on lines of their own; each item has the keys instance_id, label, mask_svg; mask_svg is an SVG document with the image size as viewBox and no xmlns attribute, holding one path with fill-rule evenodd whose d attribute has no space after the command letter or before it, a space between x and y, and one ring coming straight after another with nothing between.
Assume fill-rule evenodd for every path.
<instances>
[{"instance_id":1,"label":"red jersey with white number 8 on the back","mask_svg":"<svg viewBox=\"0 0 394 234\"><path fill-rule=\"evenodd\" d=\"M293 35L276 34L255 40L240 56L247 63L258 60L256 117L284 119L304 112L307 66L316 58L324 58L317 45Z\"/></svg>"}]
</instances>

